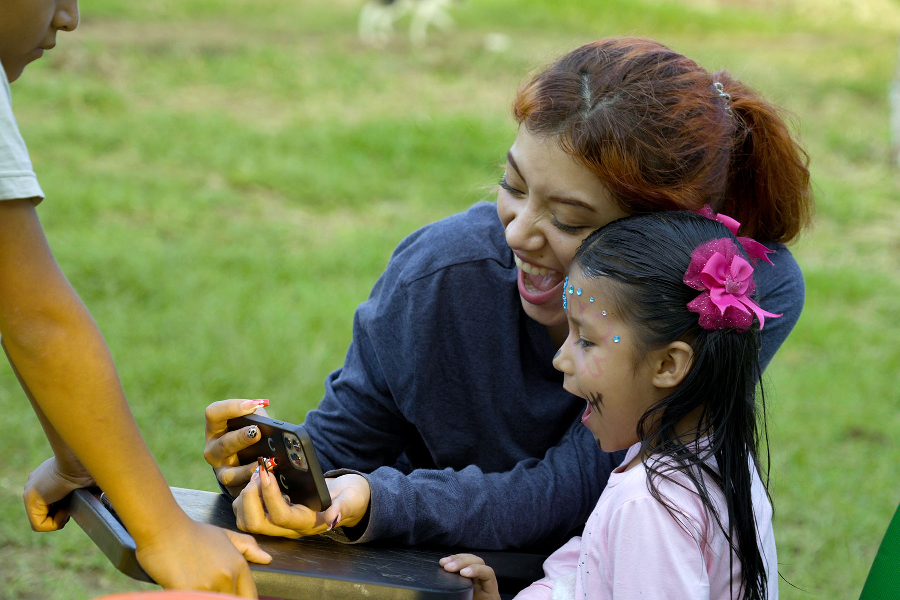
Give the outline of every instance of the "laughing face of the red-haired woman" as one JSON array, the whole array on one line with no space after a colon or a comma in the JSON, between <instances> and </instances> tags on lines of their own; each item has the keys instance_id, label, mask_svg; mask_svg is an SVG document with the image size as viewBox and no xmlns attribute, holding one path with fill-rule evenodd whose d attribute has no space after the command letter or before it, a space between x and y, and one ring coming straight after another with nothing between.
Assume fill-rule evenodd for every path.
<instances>
[{"instance_id":1,"label":"laughing face of the red-haired woman","mask_svg":"<svg viewBox=\"0 0 900 600\"><path fill-rule=\"evenodd\" d=\"M497 212L516 255L527 315L546 327L565 327L569 264L585 237L627 213L597 175L559 147L558 138L539 138L525 127L507 155Z\"/></svg>"}]
</instances>

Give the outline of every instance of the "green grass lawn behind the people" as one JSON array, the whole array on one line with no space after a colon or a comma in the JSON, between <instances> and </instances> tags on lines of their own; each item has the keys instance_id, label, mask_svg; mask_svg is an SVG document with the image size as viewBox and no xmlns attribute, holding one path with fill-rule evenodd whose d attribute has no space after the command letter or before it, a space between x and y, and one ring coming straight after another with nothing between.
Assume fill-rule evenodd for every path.
<instances>
[{"instance_id":1,"label":"green grass lawn behind the people","mask_svg":"<svg viewBox=\"0 0 900 600\"><path fill-rule=\"evenodd\" d=\"M270 398L294 422L315 407L393 247L491 196L528 71L645 35L797 116L818 218L794 248L806 310L768 372L779 561L799 588L781 597L859 596L900 501L900 5L473 0L427 48L376 50L356 39L361 4L85 2L13 87L50 243L169 482L214 489L211 401ZM31 533L21 492L49 448L5 368L0 399L0 598L146 588L74 525Z\"/></svg>"}]
</instances>

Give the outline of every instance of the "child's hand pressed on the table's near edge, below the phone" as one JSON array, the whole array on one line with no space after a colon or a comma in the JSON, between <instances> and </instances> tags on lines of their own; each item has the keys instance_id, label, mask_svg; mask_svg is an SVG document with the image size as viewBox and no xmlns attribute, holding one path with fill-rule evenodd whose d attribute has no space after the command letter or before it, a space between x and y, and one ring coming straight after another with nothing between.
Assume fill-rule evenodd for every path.
<instances>
[{"instance_id":1,"label":"child's hand pressed on the table's near edge, below the phone","mask_svg":"<svg viewBox=\"0 0 900 600\"><path fill-rule=\"evenodd\" d=\"M166 589L208 590L247 598L257 597L247 560L264 565L272 561L251 536L190 519L140 545L137 554L140 566Z\"/></svg>"}]
</instances>

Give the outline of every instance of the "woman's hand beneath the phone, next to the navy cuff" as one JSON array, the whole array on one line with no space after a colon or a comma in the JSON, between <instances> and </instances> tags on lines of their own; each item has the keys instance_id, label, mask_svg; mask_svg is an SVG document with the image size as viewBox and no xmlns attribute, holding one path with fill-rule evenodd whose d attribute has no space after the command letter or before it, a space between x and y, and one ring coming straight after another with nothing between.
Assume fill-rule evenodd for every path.
<instances>
[{"instance_id":1,"label":"woman's hand beneath the phone, next to the navy cuff","mask_svg":"<svg viewBox=\"0 0 900 600\"><path fill-rule=\"evenodd\" d=\"M329 532L335 527L354 527L369 509L372 490L362 475L325 479L331 495L328 510L317 513L306 506L289 504L278 481L268 471L255 471L250 485L234 501L238 528L249 533L299 538Z\"/></svg>"}]
</instances>

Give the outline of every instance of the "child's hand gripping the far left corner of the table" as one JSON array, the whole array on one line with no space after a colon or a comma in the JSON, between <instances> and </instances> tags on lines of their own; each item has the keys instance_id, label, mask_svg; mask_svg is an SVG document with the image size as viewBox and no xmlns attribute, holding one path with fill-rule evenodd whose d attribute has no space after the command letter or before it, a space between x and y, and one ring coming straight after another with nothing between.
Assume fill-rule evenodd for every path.
<instances>
[{"instance_id":1,"label":"child's hand gripping the far left corner of the table","mask_svg":"<svg viewBox=\"0 0 900 600\"><path fill-rule=\"evenodd\" d=\"M94 485L91 474L78 461L62 465L57 457L43 463L28 476L25 484L25 512L36 532L53 532L68 522L68 513L55 510L53 503L67 497L73 490Z\"/></svg>"}]
</instances>

